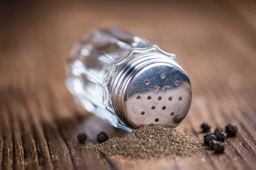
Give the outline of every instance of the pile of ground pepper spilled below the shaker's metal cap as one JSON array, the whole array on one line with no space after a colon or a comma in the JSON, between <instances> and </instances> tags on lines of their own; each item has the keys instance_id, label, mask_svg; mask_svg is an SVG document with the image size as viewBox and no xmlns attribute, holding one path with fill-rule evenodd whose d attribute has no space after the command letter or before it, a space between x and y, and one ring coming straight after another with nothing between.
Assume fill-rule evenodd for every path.
<instances>
[{"instance_id":1,"label":"pile of ground pepper spilled below the shaker's metal cap","mask_svg":"<svg viewBox=\"0 0 256 170\"><path fill-rule=\"evenodd\" d=\"M87 148L91 152L141 159L195 156L205 150L206 146L199 139L162 125L144 125L121 138L115 137Z\"/></svg>"}]
</instances>

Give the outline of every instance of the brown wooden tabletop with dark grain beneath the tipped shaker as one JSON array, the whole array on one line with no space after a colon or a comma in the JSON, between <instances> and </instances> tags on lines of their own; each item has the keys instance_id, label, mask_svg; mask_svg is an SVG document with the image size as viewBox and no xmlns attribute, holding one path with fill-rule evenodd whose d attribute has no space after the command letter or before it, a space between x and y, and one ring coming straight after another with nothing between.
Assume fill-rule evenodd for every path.
<instances>
[{"instance_id":1,"label":"brown wooden tabletop with dark grain beneath the tipped shaker","mask_svg":"<svg viewBox=\"0 0 256 170\"><path fill-rule=\"evenodd\" d=\"M18 1L17 1L18 2ZM249 169L256 167L256 3L55 2L0 7L0 169ZM238 125L225 153L132 160L85 153L106 131L77 105L64 64L90 28L117 25L172 51L189 74L193 101L177 130L203 139L204 121ZM90 140L78 144L79 132Z\"/></svg>"}]
</instances>

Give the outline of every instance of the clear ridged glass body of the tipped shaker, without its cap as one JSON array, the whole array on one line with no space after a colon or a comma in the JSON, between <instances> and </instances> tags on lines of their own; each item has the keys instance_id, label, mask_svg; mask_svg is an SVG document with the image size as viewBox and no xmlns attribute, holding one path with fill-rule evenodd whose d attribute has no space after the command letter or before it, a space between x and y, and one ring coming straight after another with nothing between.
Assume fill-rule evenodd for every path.
<instances>
[{"instance_id":1,"label":"clear ridged glass body of the tipped shaker, without its cap","mask_svg":"<svg viewBox=\"0 0 256 170\"><path fill-rule=\"evenodd\" d=\"M76 42L67 65L66 84L76 100L87 111L114 127L131 131L114 113L110 86L122 63L143 51L158 51L147 40L118 28L94 29Z\"/></svg>"}]
</instances>

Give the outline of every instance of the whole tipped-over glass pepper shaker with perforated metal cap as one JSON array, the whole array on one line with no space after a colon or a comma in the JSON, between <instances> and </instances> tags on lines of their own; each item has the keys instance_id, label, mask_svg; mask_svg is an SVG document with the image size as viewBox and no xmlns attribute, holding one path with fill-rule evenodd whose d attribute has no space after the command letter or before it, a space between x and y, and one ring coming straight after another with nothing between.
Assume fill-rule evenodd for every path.
<instances>
[{"instance_id":1,"label":"whole tipped-over glass pepper shaker with perforated metal cap","mask_svg":"<svg viewBox=\"0 0 256 170\"><path fill-rule=\"evenodd\" d=\"M119 28L93 29L73 46L66 85L87 111L114 127L176 127L192 86L175 54Z\"/></svg>"}]
</instances>

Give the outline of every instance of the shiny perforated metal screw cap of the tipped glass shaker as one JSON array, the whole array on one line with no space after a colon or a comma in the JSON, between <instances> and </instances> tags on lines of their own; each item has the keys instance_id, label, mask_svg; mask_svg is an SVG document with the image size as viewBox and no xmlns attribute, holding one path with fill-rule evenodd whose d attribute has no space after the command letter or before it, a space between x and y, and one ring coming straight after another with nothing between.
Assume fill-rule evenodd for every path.
<instances>
[{"instance_id":1,"label":"shiny perforated metal screw cap of the tipped glass shaker","mask_svg":"<svg viewBox=\"0 0 256 170\"><path fill-rule=\"evenodd\" d=\"M179 125L192 101L192 86L180 65L154 53L124 65L113 85L112 102L117 116L134 129L148 124Z\"/></svg>"}]
</instances>

